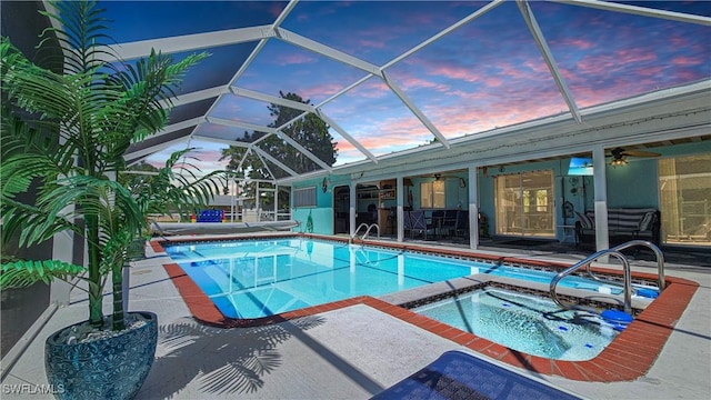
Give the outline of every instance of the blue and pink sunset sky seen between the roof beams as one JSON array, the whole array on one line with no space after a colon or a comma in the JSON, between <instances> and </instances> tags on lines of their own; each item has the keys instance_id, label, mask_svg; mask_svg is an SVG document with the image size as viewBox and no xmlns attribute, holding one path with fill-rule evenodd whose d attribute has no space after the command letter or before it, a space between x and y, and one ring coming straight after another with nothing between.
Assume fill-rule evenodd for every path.
<instances>
[{"instance_id":1,"label":"blue and pink sunset sky seen between the roof beams","mask_svg":"<svg viewBox=\"0 0 711 400\"><path fill-rule=\"evenodd\" d=\"M631 3L631 2L628 2ZM283 2L106 3L118 42L272 23ZM304 1L281 28L382 67L477 11L484 2ZM711 2L633 2L635 6L711 16ZM579 108L689 83L711 76L711 28L591 8L532 1L531 9ZM227 84L256 43L208 49L184 91ZM177 57L181 57L178 54ZM444 36L385 72L448 139L568 112L519 8L507 2ZM270 39L234 86L279 96L294 92L312 104L365 76L290 43ZM210 81L213 78L214 81ZM267 103L223 99L213 117L257 124L272 122ZM322 107L375 156L410 149L432 134L379 79ZM200 136L239 138L243 129L202 124ZM338 132L338 164L364 156ZM224 144L192 141L210 170ZM162 163L180 143L148 159Z\"/></svg>"}]
</instances>

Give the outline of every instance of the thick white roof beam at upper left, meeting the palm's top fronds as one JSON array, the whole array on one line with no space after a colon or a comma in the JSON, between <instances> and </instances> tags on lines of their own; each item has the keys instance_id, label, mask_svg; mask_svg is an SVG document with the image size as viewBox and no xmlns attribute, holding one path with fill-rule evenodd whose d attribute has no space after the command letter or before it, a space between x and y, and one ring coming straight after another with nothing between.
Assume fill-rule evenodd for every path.
<instances>
[{"instance_id":1,"label":"thick white roof beam at upper left, meeting the palm's top fronds","mask_svg":"<svg viewBox=\"0 0 711 400\"><path fill-rule=\"evenodd\" d=\"M113 50L113 52L116 52L122 60L132 60L147 57L151 53L151 49L160 49L162 53L172 54L221 46L252 42L273 36L274 32L271 29L271 26L258 26L126 42L111 46L111 50Z\"/></svg>"}]
</instances>

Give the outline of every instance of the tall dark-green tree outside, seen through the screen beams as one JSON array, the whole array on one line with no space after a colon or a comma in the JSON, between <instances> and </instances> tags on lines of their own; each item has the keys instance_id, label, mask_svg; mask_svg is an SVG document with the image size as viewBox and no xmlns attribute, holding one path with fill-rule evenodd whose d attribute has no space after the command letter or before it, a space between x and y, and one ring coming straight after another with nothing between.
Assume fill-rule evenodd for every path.
<instances>
[{"instance_id":1,"label":"tall dark-green tree outside, seen through the screen beams","mask_svg":"<svg viewBox=\"0 0 711 400\"><path fill-rule=\"evenodd\" d=\"M298 101L304 104L311 103L310 100L303 100L299 94L291 92L284 94L283 92L279 91L279 96L282 99ZM269 104L268 109L269 113L274 118L274 122L269 124L269 127L271 128L279 128L303 112L273 103ZM336 149L337 143L333 141L333 137L331 136L331 133L329 133L329 126L323 122L318 116L309 113L304 118L299 119L292 122L289 127L282 129L282 131L284 134L289 136L299 144L301 144L304 149L311 151L311 153L321 159L328 166L333 166L333 163L336 163L336 157L338 154L338 150ZM263 138L268 133L266 132L259 131L244 132L243 141L251 143ZM298 173L306 173L320 169L320 167L316 162L313 162L313 160L302 154L301 151L289 144L279 136L269 136L268 138L261 140L257 146L266 153L276 158ZM262 161L262 159L260 159L256 154L256 152L252 151L247 153L248 151L249 150L243 147L230 146L229 149L222 150L222 157L220 158L220 160L229 159L227 169L230 171L236 171L238 176L243 176L246 178L271 180L272 173L274 174L273 178L287 177L287 172L282 171L279 167L272 164L268 160ZM244 158L246 153L247 158ZM244 158L244 162L242 162L242 167L241 169L239 169L242 158ZM267 162L267 164L264 164L264 162ZM241 189L243 196L256 196L256 187L253 184L242 187ZM286 197L287 194L288 193L282 194L280 192L280 203L283 204L288 202L288 198ZM269 193L269 196L271 196L271 193ZM267 199L267 204L269 203L273 204L273 198Z\"/></svg>"}]
</instances>

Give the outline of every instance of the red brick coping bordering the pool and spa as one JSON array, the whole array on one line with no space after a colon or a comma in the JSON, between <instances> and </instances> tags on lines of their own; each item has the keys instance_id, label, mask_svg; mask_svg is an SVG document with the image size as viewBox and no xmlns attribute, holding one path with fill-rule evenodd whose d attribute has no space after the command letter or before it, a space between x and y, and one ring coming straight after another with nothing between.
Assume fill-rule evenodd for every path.
<instances>
[{"instance_id":1,"label":"red brick coping bordering the pool and spa","mask_svg":"<svg viewBox=\"0 0 711 400\"><path fill-rule=\"evenodd\" d=\"M284 237L281 234L280 237ZM339 240L333 237L308 236L327 240ZM237 239L237 238L236 238ZM243 238L242 238L243 239ZM202 241L196 239L194 241ZM151 241L151 247L157 252L163 252L160 241ZM378 243L375 243L378 246ZM497 257L490 254L475 254L472 252L445 250L435 248L413 247L401 243L388 244L392 248L401 248L412 251L444 253L452 257L478 258L499 262L525 263L540 266L568 267L567 263L542 262L511 257ZM393 306L383 300L369 296L334 301L326 304L313 306L296 311L284 312L278 316L259 319L233 319L224 317L208 298L207 294L188 277L177 263L163 264L173 284L182 296L193 318L202 323L220 328L246 328L278 323L287 320L313 316L327 311L333 311L354 304L365 304L381 312L388 313L404 322L451 340L470 350L505 362L510 366L523 368L547 376L560 376L577 381L617 382L630 381L642 377L654 363L657 357L674 330L674 326L681 318L687 306L697 291L699 283L675 277L665 278L665 288L647 309L639 313L634 321L628 326L600 354L585 361L551 360L538 356L509 349L475 334L450 327L442 322L420 316L408 309ZM619 274L611 269L594 268L599 272ZM635 278L655 279L650 273L633 273Z\"/></svg>"}]
</instances>

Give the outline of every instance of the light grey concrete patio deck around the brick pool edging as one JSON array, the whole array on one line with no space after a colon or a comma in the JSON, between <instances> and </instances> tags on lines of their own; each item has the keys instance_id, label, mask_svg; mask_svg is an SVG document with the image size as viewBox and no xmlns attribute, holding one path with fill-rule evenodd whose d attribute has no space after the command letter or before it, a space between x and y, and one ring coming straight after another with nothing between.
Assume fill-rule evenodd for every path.
<instances>
[{"instance_id":1,"label":"light grey concrete patio deck around the brick pool edging","mask_svg":"<svg viewBox=\"0 0 711 400\"><path fill-rule=\"evenodd\" d=\"M480 251L505 251L507 256L537 260L560 261L562 257L510 249ZM191 318L168 278L162 263L170 262L169 259L161 254L148 256L131 271L130 309L156 312L160 329L156 361L138 399L368 399L444 351L471 353L454 341L362 303L264 327L206 327ZM649 261L633 264L637 271L653 272L654 269ZM599 383L514 370L583 398L708 399L711 392L711 270L671 263L667 266L667 274L694 280L700 288L642 378ZM52 398L27 389L17 393L13 388L47 384L44 338L61 327L86 319L83 293L73 293L72 300L69 307L53 313L8 371L2 381L3 399Z\"/></svg>"}]
</instances>

